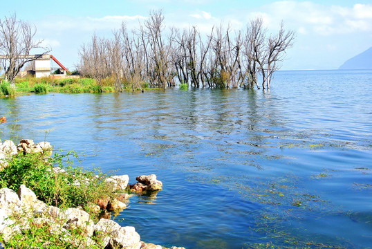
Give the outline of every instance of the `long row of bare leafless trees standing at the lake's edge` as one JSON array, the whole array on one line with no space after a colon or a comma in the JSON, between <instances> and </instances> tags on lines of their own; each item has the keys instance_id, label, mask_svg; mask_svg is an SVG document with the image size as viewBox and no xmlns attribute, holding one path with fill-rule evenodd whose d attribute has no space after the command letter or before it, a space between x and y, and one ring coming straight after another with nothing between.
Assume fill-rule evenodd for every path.
<instances>
[{"instance_id":1,"label":"long row of bare leafless trees standing at the lake's edge","mask_svg":"<svg viewBox=\"0 0 372 249\"><path fill-rule=\"evenodd\" d=\"M196 26L165 30L162 11L151 11L135 30L123 22L111 39L93 35L80 48L80 73L102 84L113 77L116 91L122 83L140 88L144 83L167 88L176 82L192 87L270 89L295 32L268 34L257 17L244 30L225 28L221 23L208 35ZM258 80L261 79L261 82Z\"/></svg>"}]
</instances>

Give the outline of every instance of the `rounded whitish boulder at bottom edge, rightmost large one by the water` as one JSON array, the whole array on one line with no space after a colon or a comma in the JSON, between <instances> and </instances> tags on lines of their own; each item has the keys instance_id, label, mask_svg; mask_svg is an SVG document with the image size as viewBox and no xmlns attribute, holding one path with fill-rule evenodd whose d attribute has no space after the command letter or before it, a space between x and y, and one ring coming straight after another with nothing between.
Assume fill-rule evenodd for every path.
<instances>
[{"instance_id":1,"label":"rounded whitish boulder at bottom edge, rightmost large one by the water","mask_svg":"<svg viewBox=\"0 0 372 249\"><path fill-rule=\"evenodd\" d=\"M140 234L131 226L114 230L110 234L110 246L112 248L140 249Z\"/></svg>"}]
</instances>

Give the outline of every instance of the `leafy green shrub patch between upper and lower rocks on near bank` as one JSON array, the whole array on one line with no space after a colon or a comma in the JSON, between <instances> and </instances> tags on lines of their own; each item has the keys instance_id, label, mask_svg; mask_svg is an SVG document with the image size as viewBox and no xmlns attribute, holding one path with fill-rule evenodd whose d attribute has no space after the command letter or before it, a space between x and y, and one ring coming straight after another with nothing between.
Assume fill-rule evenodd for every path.
<instances>
[{"instance_id":1,"label":"leafy green shrub patch between upper and lower rocks on near bank","mask_svg":"<svg viewBox=\"0 0 372 249\"><path fill-rule=\"evenodd\" d=\"M72 158L78 159L73 151L48 159L39 153L13 156L0 171L0 186L17 192L24 184L39 200L58 208L81 206L89 210L89 203L99 198L115 198L104 182L105 174L97 169L85 171ZM55 166L63 170L54 171Z\"/></svg>"}]
</instances>

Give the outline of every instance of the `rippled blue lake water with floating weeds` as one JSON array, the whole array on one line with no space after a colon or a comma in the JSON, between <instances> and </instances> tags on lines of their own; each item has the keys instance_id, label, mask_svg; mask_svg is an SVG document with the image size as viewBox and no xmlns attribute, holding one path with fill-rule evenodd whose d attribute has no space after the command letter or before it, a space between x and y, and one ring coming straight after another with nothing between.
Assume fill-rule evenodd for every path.
<instances>
[{"instance_id":1,"label":"rippled blue lake water with floating weeds","mask_svg":"<svg viewBox=\"0 0 372 249\"><path fill-rule=\"evenodd\" d=\"M0 116L3 140L46 139L130 183L156 174L164 189L115 218L144 241L371 248L372 71L279 71L269 92L24 95Z\"/></svg>"}]
</instances>

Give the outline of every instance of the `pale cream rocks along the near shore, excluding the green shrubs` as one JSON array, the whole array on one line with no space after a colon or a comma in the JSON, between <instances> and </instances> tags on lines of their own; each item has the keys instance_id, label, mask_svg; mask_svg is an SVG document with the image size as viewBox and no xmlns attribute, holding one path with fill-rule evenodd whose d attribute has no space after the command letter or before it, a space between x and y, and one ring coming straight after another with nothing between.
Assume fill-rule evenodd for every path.
<instances>
[{"instance_id":1,"label":"pale cream rocks along the near shore, excluding the green shrubs","mask_svg":"<svg viewBox=\"0 0 372 249\"><path fill-rule=\"evenodd\" d=\"M0 142L0 171L7 167L9 158L19 153L44 153L50 156L51 151L52 147L48 142L35 144L32 140L21 140L17 146L10 140ZM53 172L63 174L63 171L64 169L53 167ZM162 190L162 183L154 174L138 176L136 178L138 182L133 185L129 185L128 175L110 176L104 181L113 192L130 189L136 194ZM95 213L102 210L108 212L123 210L126 208L123 201L130 196L131 194L124 193L111 201L97 199L95 203L91 203L91 210ZM33 228L46 228L51 235L66 241L74 248L168 249L141 241L140 234L133 226L122 227L119 223L102 217L98 221L93 221L91 215L80 207L62 210L46 205L43 201L39 201L36 194L26 185L21 185L17 192L9 188L0 189L0 234L3 241L8 243L17 235ZM48 243L51 242L45 243L44 246L48 248ZM171 249L185 248L174 246Z\"/></svg>"}]
</instances>

